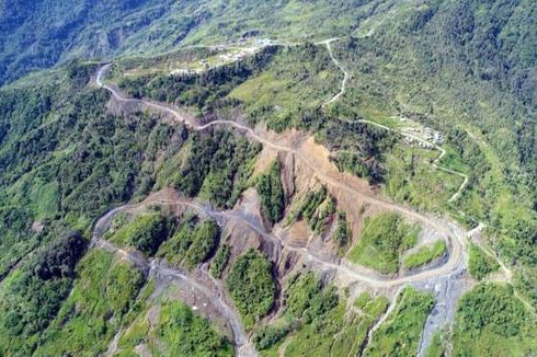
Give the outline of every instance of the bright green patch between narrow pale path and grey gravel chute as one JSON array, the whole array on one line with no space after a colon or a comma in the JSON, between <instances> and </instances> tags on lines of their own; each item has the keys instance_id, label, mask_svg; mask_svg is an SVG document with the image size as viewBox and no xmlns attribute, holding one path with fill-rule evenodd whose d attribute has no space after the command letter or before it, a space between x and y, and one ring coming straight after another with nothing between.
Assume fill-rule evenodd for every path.
<instances>
[{"instance_id":1,"label":"bright green patch between narrow pale path and grey gravel chute","mask_svg":"<svg viewBox=\"0 0 537 357\"><path fill-rule=\"evenodd\" d=\"M374 333L366 356L414 356L421 333L434 298L413 288L405 288L398 297L396 310Z\"/></svg>"}]
</instances>

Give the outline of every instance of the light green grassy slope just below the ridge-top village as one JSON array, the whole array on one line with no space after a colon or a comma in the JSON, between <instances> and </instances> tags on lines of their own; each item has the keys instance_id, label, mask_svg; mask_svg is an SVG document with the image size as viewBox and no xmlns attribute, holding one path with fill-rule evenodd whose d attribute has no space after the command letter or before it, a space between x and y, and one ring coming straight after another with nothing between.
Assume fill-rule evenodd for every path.
<instances>
[{"instance_id":1,"label":"light green grassy slope just below the ridge-top village","mask_svg":"<svg viewBox=\"0 0 537 357\"><path fill-rule=\"evenodd\" d=\"M335 95L342 73L323 45L282 49L259 74L235 88L229 97L243 102L253 122L282 131L299 126L301 114Z\"/></svg>"}]
</instances>

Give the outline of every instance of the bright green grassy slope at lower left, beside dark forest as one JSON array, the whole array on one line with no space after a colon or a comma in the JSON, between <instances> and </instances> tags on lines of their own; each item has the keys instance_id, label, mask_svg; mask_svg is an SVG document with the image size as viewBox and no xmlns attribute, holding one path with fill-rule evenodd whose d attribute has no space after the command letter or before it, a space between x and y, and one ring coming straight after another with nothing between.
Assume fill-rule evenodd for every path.
<instances>
[{"instance_id":1,"label":"bright green grassy slope at lower left, beside dark forest","mask_svg":"<svg viewBox=\"0 0 537 357\"><path fill-rule=\"evenodd\" d=\"M144 284L144 274L103 251L90 252L37 356L96 355L119 329Z\"/></svg>"}]
</instances>

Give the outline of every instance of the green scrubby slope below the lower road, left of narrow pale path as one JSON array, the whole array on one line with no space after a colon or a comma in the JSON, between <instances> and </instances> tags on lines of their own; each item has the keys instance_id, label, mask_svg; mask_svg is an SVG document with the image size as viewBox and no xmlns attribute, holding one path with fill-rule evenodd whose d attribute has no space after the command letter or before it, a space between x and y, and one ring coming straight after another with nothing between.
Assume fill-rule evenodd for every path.
<instances>
[{"instance_id":1,"label":"green scrubby slope below the lower road, left of narrow pale path","mask_svg":"<svg viewBox=\"0 0 537 357\"><path fill-rule=\"evenodd\" d=\"M285 356L358 355L388 299L364 292L357 300L359 311L349 311L335 289L323 286L313 273L297 275L285 291L283 315L258 331L254 342L262 356L278 356L279 349Z\"/></svg>"}]
</instances>

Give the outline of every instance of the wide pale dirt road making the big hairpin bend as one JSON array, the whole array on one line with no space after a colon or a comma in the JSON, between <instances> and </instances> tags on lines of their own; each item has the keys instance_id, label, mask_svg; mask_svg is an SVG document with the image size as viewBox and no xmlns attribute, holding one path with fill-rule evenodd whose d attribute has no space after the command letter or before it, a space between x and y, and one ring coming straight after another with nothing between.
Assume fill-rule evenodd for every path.
<instances>
[{"instance_id":1,"label":"wide pale dirt road making the big hairpin bend","mask_svg":"<svg viewBox=\"0 0 537 357\"><path fill-rule=\"evenodd\" d=\"M329 46L330 49L330 43L327 43L327 46ZM310 264L319 267L322 270L336 272L340 276L344 276L346 281L361 281L370 286L374 289L396 289L405 284L411 284L415 287L426 289L431 289L431 287L435 287L436 289L436 287L446 286L446 288L436 289L438 290L438 293L436 293L437 298L442 300L438 300L439 302L437 303L437 306L447 307L446 309L448 311L454 311L455 301L450 301L452 299L448 298L452 297L453 293L443 293L443 291L450 291L449 286L446 285L448 284L447 281L454 276L459 276L460 272L464 272L464 269L466 268L467 257L465 245L467 234L460 229L460 227L453 222L448 222L439 218L429 217L418 211L414 211L409 207L395 204L385 198L377 197L375 193L369 189L369 187L364 185L364 182L352 175L340 173L328 160L328 154L330 152L328 152L324 148L316 145L312 138L309 138L308 140L302 140L301 142L293 142L293 145L289 146L285 140L279 140L275 135L273 135L272 133L267 133L262 128L252 128L237 122L225 119L199 124L193 116L188 115L187 113L183 113L180 110L176 110L168 104L125 97L118 89L102 82L102 76L106 72L108 67L110 65L105 65L100 68L95 82L99 87L102 87L111 92L114 101L125 104L136 104L140 108L163 114L164 118L168 117L168 119L171 118L173 122L183 123L191 127L193 130L205 130L213 126L228 126L236 128L248 138L261 142L264 147L271 148L276 152L286 152L288 154L292 154L297 162L300 162L305 168L310 170L312 176L317 177L320 182L328 185L332 191L338 191L347 199L355 199L356 201L369 204L385 210L398 211L407 218L419 221L422 224L434 229L438 233L442 233L442 235L444 235L448 241L449 253L447 260L441 266L434 266L430 269L425 269L409 276L386 277L367 268L351 265L345 262L328 261L322 256L315 255L315 252L310 252L306 247L290 246L286 244L285 240L282 239L282 237L278 237L273 232L267 232L264 227L258 224L256 222L252 222L238 212L214 211L207 209L207 207L203 205L201 206L199 204L194 204L192 201L187 203L175 200L174 203L170 204L190 205L191 208L202 210L209 216L213 215L213 217L215 218L224 218L226 220L231 220L240 222L241 224L245 224L251 230L262 235L264 239L277 243L279 250L295 252L296 254L301 256L304 261L309 262ZM342 89L344 92L344 83L342 83ZM343 93L339 93L335 96L335 100L341 96L341 94ZM437 158L437 160L439 160L442 156L443 151L441 149L441 156ZM434 162L434 164L437 164L437 160ZM459 187L458 192L452 197L453 199L457 198L460 191L462 191L465 184L466 180ZM438 323L434 319L432 319L431 321L432 322L427 323L425 326L425 330L427 332L427 334L424 334L425 339L429 336L430 332L433 329L436 329L436 325ZM422 345L423 344L424 342L422 342Z\"/></svg>"}]
</instances>

